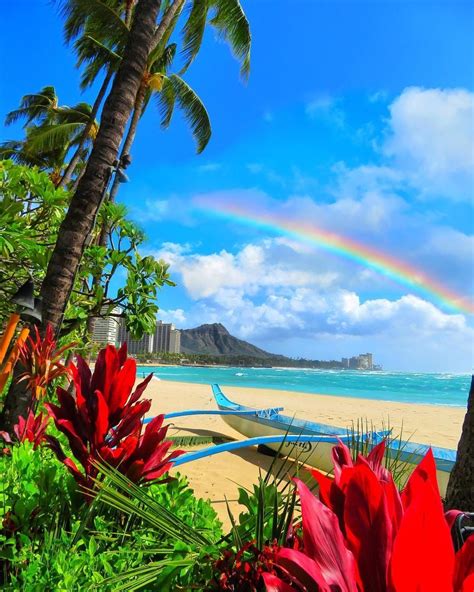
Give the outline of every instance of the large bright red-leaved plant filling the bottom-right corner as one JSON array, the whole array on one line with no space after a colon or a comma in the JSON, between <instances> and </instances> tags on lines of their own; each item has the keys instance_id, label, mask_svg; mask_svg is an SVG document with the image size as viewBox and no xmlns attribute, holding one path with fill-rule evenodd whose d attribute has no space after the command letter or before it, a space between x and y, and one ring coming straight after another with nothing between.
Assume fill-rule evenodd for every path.
<instances>
[{"instance_id":1,"label":"large bright red-leaved plant filling the bottom-right corner","mask_svg":"<svg viewBox=\"0 0 474 592\"><path fill-rule=\"evenodd\" d=\"M303 550L278 551L275 565L284 579L262 574L267 591L474 590L474 537L455 553L431 450L401 494L382 466L384 450L382 442L353 463L347 447L336 446L334 479L313 472L319 499L295 479Z\"/></svg>"}]
</instances>

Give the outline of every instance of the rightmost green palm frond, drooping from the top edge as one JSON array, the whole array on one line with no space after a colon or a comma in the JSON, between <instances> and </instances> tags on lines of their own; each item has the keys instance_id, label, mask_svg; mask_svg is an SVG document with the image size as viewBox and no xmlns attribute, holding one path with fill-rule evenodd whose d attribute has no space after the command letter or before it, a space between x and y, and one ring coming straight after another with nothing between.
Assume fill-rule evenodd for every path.
<instances>
[{"instance_id":1,"label":"rightmost green palm frond, drooping from the top edge","mask_svg":"<svg viewBox=\"0 0 474 592\"><path fill-rule=\"evenodd\" d=\"M250 73L250 49L252 37L250 25L239 0L210 0L215 15L211 25L231 46L232 52L241 62L242 76Z\"/></svg>"}]
</instances>

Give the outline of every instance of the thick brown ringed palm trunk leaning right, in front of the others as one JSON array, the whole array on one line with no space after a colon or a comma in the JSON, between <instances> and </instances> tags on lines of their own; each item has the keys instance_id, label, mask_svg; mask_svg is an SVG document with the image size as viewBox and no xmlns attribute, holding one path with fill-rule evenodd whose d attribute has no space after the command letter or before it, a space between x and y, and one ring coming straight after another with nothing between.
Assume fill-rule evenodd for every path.
<instances>
[{"instance_id":1,"label":"thick brown ringed palm trunk leaning right, in front of the others","mask_svg":"<svg viewBox=\"0 0 474 592\"><path fill-rule=\"evenodd\" d=\"M160 0L139 0L123 60L104 105L101 126L86 170L72 197L41 288L43 325L61 325L87 239L103 201L153 46Z\"/></svg>"}]
</instances>

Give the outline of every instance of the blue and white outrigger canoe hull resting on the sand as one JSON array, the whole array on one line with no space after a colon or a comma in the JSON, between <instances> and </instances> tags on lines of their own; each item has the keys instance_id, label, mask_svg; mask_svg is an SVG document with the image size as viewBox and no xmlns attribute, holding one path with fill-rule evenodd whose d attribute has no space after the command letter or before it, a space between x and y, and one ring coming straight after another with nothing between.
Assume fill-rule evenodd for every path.
<instances>
[{"instance_id":1,"label":"blue and white outrigger canoe hull resting on the sand","mask_svg":"<svg viewBox=\"0 0 474 592\"><path fill-rule=\"evenodd\" d=\"M219 385L213 384L212 392L219 410L224 412L222 419L243 436L251 438L252 444L265 444L274 451L322 471L332 471L331 450L335 444L340 440L347 445L353 443L354 435L349 434L347 429L283 415L280 413L281 408L260 411L253 409L252 414L249 413L252 411L251 407L239 405L228 399ZM267 442L271 440L271 436L280 436L280 439L276 442ZM283 446L280 443L282 436L286 436L286 441L283 438ZM287 441L288 436L291 436L291 441ZM396 458L407 473L418 465L430 448L425 444L392 439L390 431L374 432L369 437L373 445L385 438L386 454ZM456 460L456 451L439 447L431 447L431 450L436 462L440 493L444 497L449 474Z\"/></svg>"}]
</instances>

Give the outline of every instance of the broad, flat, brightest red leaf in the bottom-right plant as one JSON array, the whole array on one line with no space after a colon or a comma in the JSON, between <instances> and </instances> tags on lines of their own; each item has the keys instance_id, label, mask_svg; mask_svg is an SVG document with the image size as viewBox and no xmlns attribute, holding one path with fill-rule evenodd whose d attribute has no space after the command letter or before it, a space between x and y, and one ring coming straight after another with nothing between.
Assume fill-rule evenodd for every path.
<instances>
[{"instance_id":1,"label":"broad, flat, brightest red leaf in the bottom-right plant","mask_svg":"<svg viewBox=\"0 0 474 592\"><path fill-rule=\"evenodd\" d=\"M441 498L429 480L415 479L393 544L391 583L397 592L451 592L454 549Z\"/></svg>"}]
</instances>

